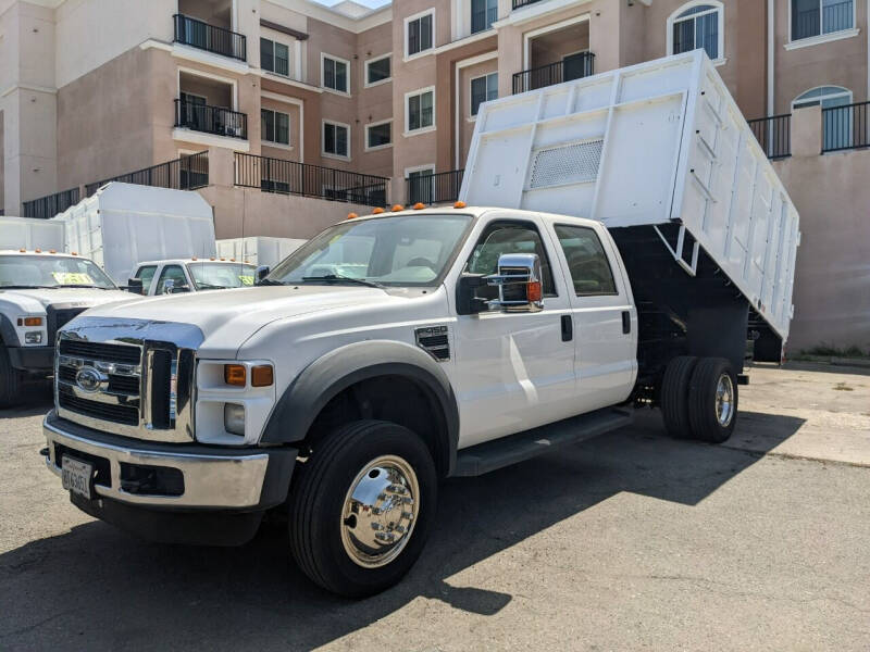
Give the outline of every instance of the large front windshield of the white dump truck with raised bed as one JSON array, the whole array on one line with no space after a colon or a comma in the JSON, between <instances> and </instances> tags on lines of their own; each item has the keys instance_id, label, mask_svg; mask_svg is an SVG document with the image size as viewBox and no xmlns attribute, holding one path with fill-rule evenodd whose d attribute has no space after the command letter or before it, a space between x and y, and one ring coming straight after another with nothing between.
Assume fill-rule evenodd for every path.
<instances>
[{"instance_id":1,"label":"large front windshield of the white dump truck with raised bed","mask_svg":"<svg viewBox=\"0 0 870 652\"><path fill-rule=\"evenodd\" d=\"M284 260L266 283L435 285L470 222L471 215L432 213L344 222Z\"/></svg>"}]
</instances>

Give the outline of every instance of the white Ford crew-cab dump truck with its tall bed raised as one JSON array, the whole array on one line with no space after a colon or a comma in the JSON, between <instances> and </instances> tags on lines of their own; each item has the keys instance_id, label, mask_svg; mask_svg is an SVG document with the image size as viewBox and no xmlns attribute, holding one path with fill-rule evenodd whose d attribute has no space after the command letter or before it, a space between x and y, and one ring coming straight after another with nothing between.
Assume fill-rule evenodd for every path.
<instances>
[{"instance_id":1,"label":"white Ford crew-cab dump truck with its tall bed raised","mask_svg":"<svg viewBox=\"0 0 870 652\"><path fill-rule=\"evenodd\" d=\"M728 439L749 311L787 334L798 217L703 52L485 104L463 195L489 205L348 220L259 287L67 324L47 467L158 540L283 510L302 570L360 597L420 555L440 478L638 406Z\"/></svg>"}]
</instances>

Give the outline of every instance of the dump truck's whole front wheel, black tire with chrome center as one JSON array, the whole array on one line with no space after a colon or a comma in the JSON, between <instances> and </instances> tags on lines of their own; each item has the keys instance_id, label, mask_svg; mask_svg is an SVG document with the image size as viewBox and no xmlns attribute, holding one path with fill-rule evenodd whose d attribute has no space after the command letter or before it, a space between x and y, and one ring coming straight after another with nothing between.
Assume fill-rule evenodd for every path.
<instances>
[{"instance_id":1,"label":"dump truck's whole front wheel, black tire with chrome center","mask_svg":"<svg viewBox=\"0 0 870 652\"><path fill-rule=\"evenodd\" d=\"M362 598L393 586L420 556L435 516L426 444L397 424L361 421L321 439L290 490L290 549L323 588Z\"/></svg>"}]
</instances>

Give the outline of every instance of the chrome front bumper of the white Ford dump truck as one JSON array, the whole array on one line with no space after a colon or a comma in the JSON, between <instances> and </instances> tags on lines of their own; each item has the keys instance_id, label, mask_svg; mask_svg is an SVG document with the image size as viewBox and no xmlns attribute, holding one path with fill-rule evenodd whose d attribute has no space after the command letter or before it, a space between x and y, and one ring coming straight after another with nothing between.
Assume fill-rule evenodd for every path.
<instances>
[{"instance_id":1,"label":"chrome front bumper of the white Ford dump truck","mask_svg":"<svg viewBox=\"0 0 870 652\"><path fill-rule=\"evenodd\" d=\"M61 475L63 454L78 454L97 468L91 492L97 499L149 510L256 512L276 506L287 498L298 452L139 441L79 426L54 411L42 430L46 466L54 475ZM153 485L132 479L156 468L177 469L167 473L176 478L181 473L181 489L175 482L172 491L154 491Z\"/></svg>"}]
</instances>

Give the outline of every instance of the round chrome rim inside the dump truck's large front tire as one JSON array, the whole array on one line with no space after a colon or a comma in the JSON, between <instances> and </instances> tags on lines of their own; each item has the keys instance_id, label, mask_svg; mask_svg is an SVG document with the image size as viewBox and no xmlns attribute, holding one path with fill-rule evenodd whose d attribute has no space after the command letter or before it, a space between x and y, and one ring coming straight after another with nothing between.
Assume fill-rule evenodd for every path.
<instances>
[{"instance_id":1,"label":"round chrome rim inside the dump truck's large front tire","mask_svg":"<svg viewBox=\"0 0 870 652\"><path fill-rule=\"evenodd\" d=\"M364 568L395 560L411 539L420 512L420 487L408 462L382 455L350 484L341 512L345 552Z\"/></svg>"}]
</instances>

